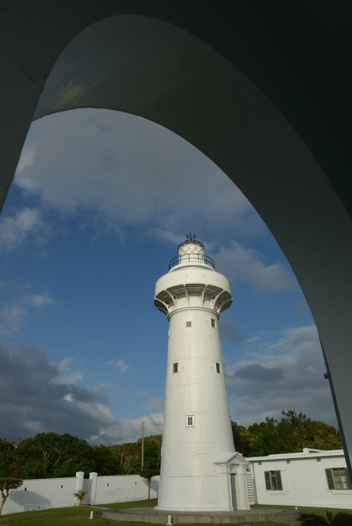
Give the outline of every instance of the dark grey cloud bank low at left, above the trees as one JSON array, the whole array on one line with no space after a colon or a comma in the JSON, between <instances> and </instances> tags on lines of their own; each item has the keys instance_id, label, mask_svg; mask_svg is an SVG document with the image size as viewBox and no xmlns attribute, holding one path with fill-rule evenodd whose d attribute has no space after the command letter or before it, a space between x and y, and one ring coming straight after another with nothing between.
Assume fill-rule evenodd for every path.
<instances>
[{"instance_id":1,"label":"dark grey cloud bank low at left, above the trees","mask_svg":"<svg viewBox=\"0 0 352 526\"><path fill-rule=\"evenodd\" d=\"M89 439L99 436L104 426L118 428L118 419L99 385L78 387L60 382L70 359L57 366L35 348L11 353L5 345L0 345L0 359L0 418L8 440L38 431L69 432Z\"/></svg>"}]
</instances>

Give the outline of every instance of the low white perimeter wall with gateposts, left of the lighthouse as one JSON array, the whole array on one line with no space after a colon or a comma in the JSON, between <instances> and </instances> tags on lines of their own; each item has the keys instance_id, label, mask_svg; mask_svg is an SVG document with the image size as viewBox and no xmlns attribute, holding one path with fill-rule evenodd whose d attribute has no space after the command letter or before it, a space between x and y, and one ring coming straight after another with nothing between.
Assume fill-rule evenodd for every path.
<instances>
[{"instance_id":1,"label":"low white perimeter wall with gateposts, left of the lighthouse","mask_svg":"<svg viewBox=\"0 0 352 526\"><path fill-rule=\"evenodd\" d=\"M98 477L90 473L89 480L83 477L78 472L75 477L23 480L20 488L10 490L2 515L75 506L73 493L79 489L88 489L83 503L92 505L148 498L148 481L139 475ZM153 477L151 499L158 496L158 483L159 477Z\"/></svg>"}]
</instances>

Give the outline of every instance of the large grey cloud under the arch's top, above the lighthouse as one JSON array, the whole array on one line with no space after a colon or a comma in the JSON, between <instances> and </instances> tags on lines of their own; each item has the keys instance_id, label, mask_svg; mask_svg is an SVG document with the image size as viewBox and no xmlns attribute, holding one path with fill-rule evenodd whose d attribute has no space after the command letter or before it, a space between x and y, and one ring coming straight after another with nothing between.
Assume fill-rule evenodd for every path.
<instances>
[{"instance_id":1,"label":"large grey cloud under the arch's top, above the lighthouse","mask_svg":"<svg viewBox=\"0 0 352 526\"><path fill-rule=\"evenodd\" d=\"M239 236L265 230L244 195L203 154L126 113L75 110L33 122L14 181L60 213L89 210L92 221L121 238L130 225L161 238L189 228L211 238L229 222Z\"/></svg>"}]
</instances>

